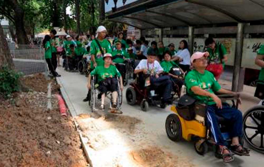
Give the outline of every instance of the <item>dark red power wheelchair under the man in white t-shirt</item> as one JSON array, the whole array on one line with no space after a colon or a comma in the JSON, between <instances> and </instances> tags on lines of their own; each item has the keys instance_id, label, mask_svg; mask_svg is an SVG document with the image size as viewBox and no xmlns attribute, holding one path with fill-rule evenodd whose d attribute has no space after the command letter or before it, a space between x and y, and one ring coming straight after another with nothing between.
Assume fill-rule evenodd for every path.
<instances>
[{"instance_id":1,"label":"dark red power wheelchair under the man in white t-shirt","mask_svg":"<svg viewBox=\"0 0 264 167\"><path fill-rule=\"evenodd\" d=\"M142 75L142 74L140 74ZM143 80L140 75L135 79L135 82L130 83L131 87L126 89L126 101L129 105L140 104L142 111L147 111L149 104L152 106L160 106L162 109L166 107L166 104L162 102L163 90L157 91L157 87L154 86L144 86ZM175 92L171 92L172 97Z\"/></svg>"}]
</instances>

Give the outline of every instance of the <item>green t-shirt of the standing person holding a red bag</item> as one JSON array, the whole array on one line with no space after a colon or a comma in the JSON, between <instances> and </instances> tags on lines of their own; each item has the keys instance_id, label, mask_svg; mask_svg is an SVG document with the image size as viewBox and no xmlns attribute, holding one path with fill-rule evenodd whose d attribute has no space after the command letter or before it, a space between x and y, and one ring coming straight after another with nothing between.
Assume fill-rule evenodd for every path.
<instances>
[{"instance_id":1,"label":"green t-shirt of the standing person holding a red bag","mask_svg":"<svg viewBox=\"0 0 264 167\"><path fill-rule=\"evenodd\" d=\"M224 55L227 54L227 50L224 45L222 44L215 44L215 50L213 51L211 48L207 48L207 51L209 52L209 63L215 62L216 64L221 64L221 60L224 58ZM225 66L225 63L222 62L223 66Z\"/></svg>"}]
</instances>

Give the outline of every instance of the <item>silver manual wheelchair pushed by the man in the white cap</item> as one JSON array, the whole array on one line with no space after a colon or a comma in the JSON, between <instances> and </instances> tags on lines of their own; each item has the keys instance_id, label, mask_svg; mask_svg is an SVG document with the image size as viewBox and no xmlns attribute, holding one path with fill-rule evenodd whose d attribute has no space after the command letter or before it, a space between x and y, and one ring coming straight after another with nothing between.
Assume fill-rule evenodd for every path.
<instances>
[{"instance_id":1,"label":"silver manual wheelchair pushed by the man in the white cap","mask_svg":"<svg viewBox=\"0 0 264 167\"><path fill-rule=\"evenodd\" d=\"M116 110L121 111L121 105L122 105L122 91L120 89L120 81L119 78L117 77L118 80L118 91L117 91L117 107ZM100 91L97 89L99 85L97 84L97 77L93 76L91 79L91 90L90 91L90 99L89 99L89 106L91 106L91 111L96 111L98 102L100 101L98 99L98 94L100 94ZM110 109L112 109L112 92L106 92L106 99L110 100Z\"/></svg>"}]
</instances>

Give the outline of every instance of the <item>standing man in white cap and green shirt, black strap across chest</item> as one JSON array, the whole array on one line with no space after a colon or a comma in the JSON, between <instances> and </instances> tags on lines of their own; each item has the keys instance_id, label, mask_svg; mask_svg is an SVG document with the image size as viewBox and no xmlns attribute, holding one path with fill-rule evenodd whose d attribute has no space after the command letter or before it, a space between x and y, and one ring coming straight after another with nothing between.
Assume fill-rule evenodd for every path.
<instances>
[{"instance_id":1,"label":"standing man in white cap and green shirt, black strap across chest","mask_svg":"<svg viewBox=\"0 0 264 167\"><path fill-rule=\"evenodd\" d=\"M105 53L111 53L111 45L105 39L107 30L104 26L99 26L96 30L96 38L92 40L90 53L91 53L91 69L94 69L97 66L103 66L103 55ZM84 102L89 100L89 90Z\"/></svg>"}]
</instances>

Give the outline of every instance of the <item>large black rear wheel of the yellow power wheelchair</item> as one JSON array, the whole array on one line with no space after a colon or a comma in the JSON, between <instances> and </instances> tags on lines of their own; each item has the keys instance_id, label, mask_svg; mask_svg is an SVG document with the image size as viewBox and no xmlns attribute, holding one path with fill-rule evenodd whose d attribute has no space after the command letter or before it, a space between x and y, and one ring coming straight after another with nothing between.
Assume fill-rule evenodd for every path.
<instances>
[{"instance_id":1,"label":"large black rear wheel of the yellow power wheelchair","mask_svg":"<svg viewBox=\"0 0 264 167\"><path fill-rule=\"evenodd\" d=\"M167 136L172 141L180 141L182 138L182 128L179 117L176 114L168 115L165 123Z\"/></svg>"}]
</instances>

